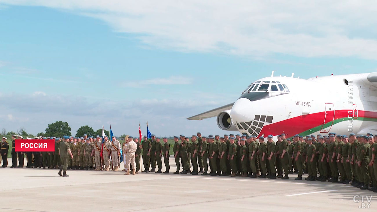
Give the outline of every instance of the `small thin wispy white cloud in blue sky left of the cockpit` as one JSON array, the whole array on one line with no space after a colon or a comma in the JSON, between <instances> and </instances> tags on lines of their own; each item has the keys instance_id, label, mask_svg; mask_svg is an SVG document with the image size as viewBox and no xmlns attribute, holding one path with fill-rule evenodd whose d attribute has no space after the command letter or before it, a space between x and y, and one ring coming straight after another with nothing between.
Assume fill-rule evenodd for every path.
<instances>
[{"instance_id":1,"label":"small thin wispy white cloud in blue sky left of the cockpit","mask_svg":"<svg viewBox=\"0 0 377 212\"><path fill-rule=\"evenodd\" d=\"M125 87L140 88L149 85L172 85L172 84L192 84L192 78L186 78L182 76L170 76L168 78L154 78L148 80L139 80L137 82L123 83Z\"/></svg>"}]
</instances>

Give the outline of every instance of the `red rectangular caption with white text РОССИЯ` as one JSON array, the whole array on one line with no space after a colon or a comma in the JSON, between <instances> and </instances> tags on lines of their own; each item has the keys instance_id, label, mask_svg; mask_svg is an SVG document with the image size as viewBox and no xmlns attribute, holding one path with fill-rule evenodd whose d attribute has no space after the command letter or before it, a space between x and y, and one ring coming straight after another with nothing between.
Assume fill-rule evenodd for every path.
<instances>
[{"instance_id":1,"label":"red rectangular caption with white text \u0420\u041e\u0421\u0421\u0418\u042f","mask_svg":"<svg viewBox=\"0 0 377 212\"><path fill-rule=\"evenodd\" d=\"M16 152L54 152L55 140L15 140Z\"/></svg>"}]
</instances>

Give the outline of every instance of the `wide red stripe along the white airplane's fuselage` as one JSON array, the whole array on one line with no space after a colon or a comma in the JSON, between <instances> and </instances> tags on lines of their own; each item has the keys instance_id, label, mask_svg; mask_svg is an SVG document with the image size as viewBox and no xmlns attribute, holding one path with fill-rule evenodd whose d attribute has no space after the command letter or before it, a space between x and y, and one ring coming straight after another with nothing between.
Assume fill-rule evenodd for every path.
<instances>
[{"instance_id":1,"label":"wide red stripe along the white airplane's fuselage","mask_svg":"<svg viewBox=\"0 0 377 212\"><path fill-rule=\"evenodd\" d=\"M349 114L349 111L352 113ZM358 111L358 117L362 118L377 118L377 112L372 111ZM351 115L353 117L352 110L339 110L335 111L334 120L339 118L345 118ZM280 135L282 133L287 134L287 136L293 136L295 134L307 131L309 129L315 128L317 126L322 126L323 121L325 120L325 111L315 113L315 114L308 114L308 115L300 115L298 117L289 118L287 120L279 121L273 124L266 125L262 128L262 131L259 135ZM328 120L326 118L326 121Z\"/></svg>"}]
</instances>

